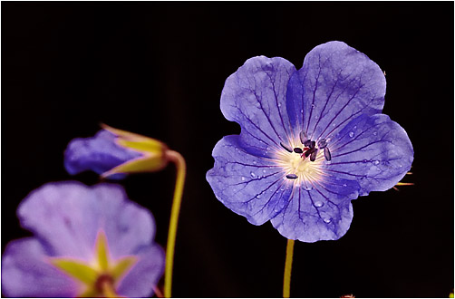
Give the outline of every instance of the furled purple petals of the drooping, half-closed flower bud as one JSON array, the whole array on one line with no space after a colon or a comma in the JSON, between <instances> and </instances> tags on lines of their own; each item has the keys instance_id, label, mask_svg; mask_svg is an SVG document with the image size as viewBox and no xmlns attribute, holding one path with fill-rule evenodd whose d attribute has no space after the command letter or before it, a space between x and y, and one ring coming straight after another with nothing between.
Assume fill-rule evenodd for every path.
<instances>
[{"instance_id":1,"label":"furled purple petals of the drooping, half-closed flower bud","mask_svg":"<svg viewBox=\"0 0 455 299\"><path fill-rule=\"evenodd\" d=\"M131 149L125 149L114 142L115 135L107 130L100 130L94 137L76 138L70 141L64 152L64 167L72 175L85 170L102 174L128 160L141 155ZM124 178L116 174L113 179Z\"/></svg>"}]
</instances>

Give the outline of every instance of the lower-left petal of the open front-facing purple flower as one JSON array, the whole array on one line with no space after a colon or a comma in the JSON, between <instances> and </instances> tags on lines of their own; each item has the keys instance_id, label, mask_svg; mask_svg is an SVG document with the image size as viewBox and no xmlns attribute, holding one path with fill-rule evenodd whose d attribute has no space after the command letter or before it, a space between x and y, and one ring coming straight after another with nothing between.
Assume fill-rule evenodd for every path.
<instances>
[{"instance_id":1,"label":"lower-left petal of the open front-facing purple flower","mask_svg":"<svg viewBox=\"0 0 455 299\"><path fill-rule=\"evenodd\" d=\"M285 206L292 183L284 170L270 159L249 154L240 146L240 137L219 140L212 152L215 166L207 180L215 196L235 213L261 225Z\"/></svg>"}]
</instances>

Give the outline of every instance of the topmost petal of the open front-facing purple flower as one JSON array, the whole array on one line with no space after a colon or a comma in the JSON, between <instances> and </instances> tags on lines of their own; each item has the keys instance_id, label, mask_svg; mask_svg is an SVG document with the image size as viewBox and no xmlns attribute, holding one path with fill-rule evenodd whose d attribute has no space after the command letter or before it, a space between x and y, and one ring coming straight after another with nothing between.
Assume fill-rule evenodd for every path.
<instances>
[{"instance_id":1,"label":"topmost petal of the open front-facing purple flower","mask_svg":"<svg viewBox=\"0 0 455 299\"><path fill-rule=\"evenodd\" d=\"M345 43L330 42L305 56L289 81L286 105L293 127L311 140L327 139L360 114L380 113L384 94L376 63Z\"/></svg>"}]
</instances>

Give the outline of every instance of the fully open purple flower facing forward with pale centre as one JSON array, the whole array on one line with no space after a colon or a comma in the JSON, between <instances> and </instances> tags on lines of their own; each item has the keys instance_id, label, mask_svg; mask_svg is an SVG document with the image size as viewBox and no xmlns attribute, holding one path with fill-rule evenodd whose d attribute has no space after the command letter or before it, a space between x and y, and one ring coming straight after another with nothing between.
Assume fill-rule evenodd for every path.
<instances>
[{"instance_id":1,"label":"fully open purple flower facing forward with pale centre","mask_svg":"<svg viewBox=\"0 0 455 299\"><path fill-rule=\"evenodd\" d=\"M379 66L345 43L316 46L298 71L280 57L248 59L221 94L241 133L213 149L215 196L290 239L344 236L351 200L392 188L411 168L406 131L381 114L384 94Z\"/></svg>"}]
</instances>

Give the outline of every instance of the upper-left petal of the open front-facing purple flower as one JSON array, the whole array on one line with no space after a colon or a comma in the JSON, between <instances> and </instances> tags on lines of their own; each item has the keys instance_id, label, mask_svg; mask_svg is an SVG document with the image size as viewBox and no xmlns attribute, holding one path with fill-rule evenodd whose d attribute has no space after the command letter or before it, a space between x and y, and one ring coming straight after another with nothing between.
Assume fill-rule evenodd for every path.
<instances>
[{"instance_id":1,"label":"upper-left petal of the open front-facing purple flower","mask_svg":"<svg viewBox=\"0 0 455 299\"><path fill-rule=\"evenodd\" d=\"M248 59L230 75L221 93L221 111L242 128L242 147L269 157L270 147L289 143L291 126L286 112L286 87L295 67L281 57Z\"/></svg>"}]
</instances>

